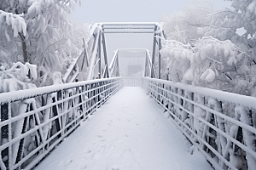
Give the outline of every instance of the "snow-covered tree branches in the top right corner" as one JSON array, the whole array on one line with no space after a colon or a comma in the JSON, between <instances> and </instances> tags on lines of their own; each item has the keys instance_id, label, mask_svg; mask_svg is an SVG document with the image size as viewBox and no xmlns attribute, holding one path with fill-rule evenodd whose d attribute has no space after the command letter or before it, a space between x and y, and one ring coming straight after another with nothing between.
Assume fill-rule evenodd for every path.
<instances>
[{"instance_id":1,"label":"snow-covered tree branches in the top right corner","mask_svg":"<svg viewBox=\"0 0 256 170\"><path fill-rule=\"evenodd\" d=\"M225 8L208 15L208 26L199 29L204 36L216 37L219 40L229 39L240 48L255 48L256 3L254 0L230 0L232 8ZM238 29L244 29L243 35L237 34Z\"/></svg>"}]
</instances>

